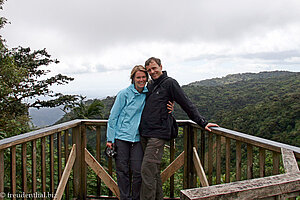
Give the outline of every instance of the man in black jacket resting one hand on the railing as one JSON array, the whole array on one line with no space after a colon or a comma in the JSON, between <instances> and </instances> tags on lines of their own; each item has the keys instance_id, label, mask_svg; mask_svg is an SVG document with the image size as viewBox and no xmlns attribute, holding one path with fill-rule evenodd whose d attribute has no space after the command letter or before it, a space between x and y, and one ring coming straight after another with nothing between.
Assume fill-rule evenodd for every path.
<instances>
[{"instance_id":1,"label":"man in black jacket resting one hand on the railing","mask_svg":"<svg viewBox=\"0 0 300 200\"><path fill-rule=\"evenodd\" d=\"M194 104L184 94L178 82L162 71L161 61L151 57L145 62L146 70L152 78L148 83L149 93L140 123L141 143L144 149L142 162L141 199L163 199L160 178L160 163L164 145L171 139L172 116L168 114L166 104L177 102L188 114L189 118L199 126L211 131L217 124L208 123Z\"/></svg>"}]
</instances>

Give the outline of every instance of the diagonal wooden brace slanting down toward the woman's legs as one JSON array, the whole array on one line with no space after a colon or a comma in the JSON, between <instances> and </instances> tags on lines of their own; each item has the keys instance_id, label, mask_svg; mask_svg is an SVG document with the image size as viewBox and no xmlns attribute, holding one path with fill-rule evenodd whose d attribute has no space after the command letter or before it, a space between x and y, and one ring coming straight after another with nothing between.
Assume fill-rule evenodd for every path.
<instances>
[{"instance_id":1,"label":"diagonal wooden brace slanting down toward the woman's legs","mask_svg":"<svg viewBox=\"0 0 300 200\"><path fill-rule=\"evenodd\" d=\"M117 183L105 171L105 169L98 163L98 161L85 149L85 162L92 168L92 170L102 179L104 184L119 198L120 191Z\"/></svg>"}]
</instances>

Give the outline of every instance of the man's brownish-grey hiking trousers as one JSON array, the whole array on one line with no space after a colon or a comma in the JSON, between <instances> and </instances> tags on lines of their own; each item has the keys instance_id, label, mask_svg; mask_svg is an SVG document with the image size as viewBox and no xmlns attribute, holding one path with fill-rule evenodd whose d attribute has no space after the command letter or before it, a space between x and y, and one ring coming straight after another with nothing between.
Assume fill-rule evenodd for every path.
<instances>
[{"instance_id":1,"label":"man's brownish-grey hiking trousers","mask_svg":"<svg viewBox=\"0 0 300 200\"><path fill-rule=\"evenodd\" d=\"M165 140L141 137L144 149L142 163L142 200L163 199L162 181L160 177L160 163L164 153Z\"/></svg>"}]
</instances>

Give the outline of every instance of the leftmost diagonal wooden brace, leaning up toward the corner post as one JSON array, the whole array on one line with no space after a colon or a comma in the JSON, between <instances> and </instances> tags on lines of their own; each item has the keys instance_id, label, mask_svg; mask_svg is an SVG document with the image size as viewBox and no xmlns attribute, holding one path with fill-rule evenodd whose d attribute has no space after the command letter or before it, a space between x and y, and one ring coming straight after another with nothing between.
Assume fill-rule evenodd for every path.
<instances>
[{"instance_id":1,"label":"leftmost diagonal wooden brace, leaning up toward the corner post","mask_svg":"<svg viewBox=\"0 0 300 200\"><path fill-rule=\"evenodd\" d=\"M61 180L58 184L54 199L60 200L62 198L65 187L66 187L67 182L68 182L68 179L70 177L75 159L76 159L76 144L73 144L73 147L72 147L72 150L70 152L67 164L66 164L64 172L61 176Z\"/></svg>"}]
</instances>

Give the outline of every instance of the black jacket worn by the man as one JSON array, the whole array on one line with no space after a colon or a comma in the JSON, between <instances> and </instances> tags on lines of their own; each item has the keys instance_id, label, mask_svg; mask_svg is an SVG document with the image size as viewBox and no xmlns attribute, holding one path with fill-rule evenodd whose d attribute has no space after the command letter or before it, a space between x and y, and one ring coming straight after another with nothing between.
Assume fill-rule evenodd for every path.
<instances>
[{"instance_id":1,"label":"black jacket worn by the man","mask_svg":"<svg viewBox=\"0 0 300 200\"><path fill-rule=\"evenodd\" d=\"M140 123L140 135L169 140L171 138L172 117L168 113L168 101L175 101L199 126L205 127L207 121L196 106L187 98L178 82L168 77L167 72L148 83L146 105Z\"/></svg>"}]
</instances>

